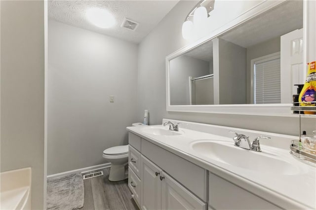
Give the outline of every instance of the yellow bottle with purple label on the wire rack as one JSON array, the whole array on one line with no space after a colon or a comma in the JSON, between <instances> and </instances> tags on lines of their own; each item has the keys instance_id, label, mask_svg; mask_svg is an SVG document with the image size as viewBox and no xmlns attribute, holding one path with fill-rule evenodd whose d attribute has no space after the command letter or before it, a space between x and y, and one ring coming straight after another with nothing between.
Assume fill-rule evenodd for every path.
<instances>
[{"instance_id":1,"label":"yellow bottle with purple label on the wire rack","mask_svg":"<svg viewBox=\"0 0 316 210\"><path fill-rule=\"evenodd\" d=\"M308 64L306 82L299 96L300 106L315 106L316 104L316 61ZM304 111L304 114L315 114L314 111Z\"/></svg>"}]
</instances>

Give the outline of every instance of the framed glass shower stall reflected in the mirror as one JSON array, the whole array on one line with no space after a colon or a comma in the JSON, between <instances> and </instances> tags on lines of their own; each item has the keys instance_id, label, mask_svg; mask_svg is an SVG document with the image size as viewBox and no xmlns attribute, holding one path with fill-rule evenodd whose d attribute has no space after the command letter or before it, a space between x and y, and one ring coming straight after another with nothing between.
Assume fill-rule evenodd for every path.
<instances>
[{"instance_id":1,"label":"framed glass shower stall reflected in the mirror","mask_svg":"<svg viewBox=\"0 0 316 210\"><path fill-rule=\"evenodd\" d=\"M213 84L213 74L199 77L189 76L190 105L213 105Z\"/></svg>"}]
</instances>

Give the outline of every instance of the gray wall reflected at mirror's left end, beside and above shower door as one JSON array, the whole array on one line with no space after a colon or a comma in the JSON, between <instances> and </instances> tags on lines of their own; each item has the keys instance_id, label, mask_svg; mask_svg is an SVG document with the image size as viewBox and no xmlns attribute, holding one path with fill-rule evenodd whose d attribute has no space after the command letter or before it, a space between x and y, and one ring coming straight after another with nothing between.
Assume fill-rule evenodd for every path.
<instances>
[{"instance_id":1,"label":"gray wall reflected at mirror's left end, beside and above shower door","mask_svg":"<svg viewBox=\"0 0 316 210\"><path fill-rule=\"evenodd\" d=\"M209 74L209 62L182 55L172 59L169 68L170 104L190 105L189 76L199 77Z\"/></svg>"}]
</instances>

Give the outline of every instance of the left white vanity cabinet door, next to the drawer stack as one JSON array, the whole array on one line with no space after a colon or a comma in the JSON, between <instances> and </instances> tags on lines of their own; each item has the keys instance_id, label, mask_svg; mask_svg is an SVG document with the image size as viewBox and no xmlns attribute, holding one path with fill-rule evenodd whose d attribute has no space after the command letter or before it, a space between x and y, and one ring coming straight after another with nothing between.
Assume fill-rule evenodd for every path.
<instances>
[{"instance_id":1,"label":"left white vanity cabinet door, next to the drawer stack","mask_svg":"<svg viewBox=\"0 0 316 210\"><path fill-rule=\"evenodd\" d=\"M161 169L153 162L141 156L141 209L161 209ZM157 175L156 175L157 174Z\"/></svg>"}]
</instances>

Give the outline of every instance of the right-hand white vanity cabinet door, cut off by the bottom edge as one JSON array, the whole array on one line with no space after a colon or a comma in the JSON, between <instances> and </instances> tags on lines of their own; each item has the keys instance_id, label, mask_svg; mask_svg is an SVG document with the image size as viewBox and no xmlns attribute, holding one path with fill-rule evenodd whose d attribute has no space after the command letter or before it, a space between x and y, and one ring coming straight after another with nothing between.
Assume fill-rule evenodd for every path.
<instances>
[{"instance_id":1,"label":"right-hand white vanity cabinet door, cut off by the bottom edge","mask_svg":"<svg viewBox=\"0 0 316 210\"><path fill-rule=\"evenodd\" d=\"M163 210L206 210L206 203L197 198L184 186L162 172L161 209Z\"/></svg>"}]
</instances>

